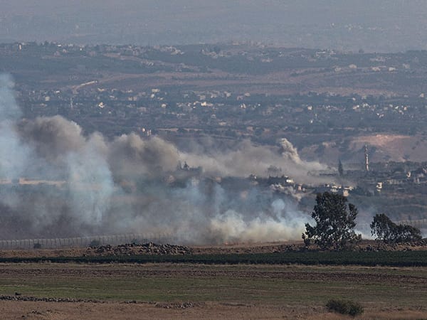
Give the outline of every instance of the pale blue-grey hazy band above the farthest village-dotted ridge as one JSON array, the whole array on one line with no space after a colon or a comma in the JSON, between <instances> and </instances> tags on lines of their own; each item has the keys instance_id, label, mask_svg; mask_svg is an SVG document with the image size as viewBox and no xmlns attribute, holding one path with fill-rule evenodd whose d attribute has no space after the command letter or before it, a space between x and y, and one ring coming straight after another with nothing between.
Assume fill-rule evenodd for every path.
<instances>
[{"instance_id":1,"label":"pale blue-grey hazy band above the farthest village-dotted ridge","mask_svg":"<svg viewBox=\"0 0 427 320\"><path fill-rule=\"evenodd\" d=\"M427 49L426 0L0 0L0 41Z\"/></svg>"}]
</instances>

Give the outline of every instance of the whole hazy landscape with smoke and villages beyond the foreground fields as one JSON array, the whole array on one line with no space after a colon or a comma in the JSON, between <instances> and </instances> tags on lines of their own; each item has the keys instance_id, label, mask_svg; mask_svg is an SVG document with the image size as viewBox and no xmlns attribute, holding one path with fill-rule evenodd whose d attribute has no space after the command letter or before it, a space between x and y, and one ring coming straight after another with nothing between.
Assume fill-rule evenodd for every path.
<instances>
[{"instance_id":1,"label":"whole hazy landscape with smoke and villages beyond the foreground fields","mask_svg":"<svg viewBox=\"0 0 427 320\"><path fill-rule=\"evenodd\" d=\"M0 238L300 240L324 191L423 228L424 1L0 6Z\"/></svg>"}]
</instances>

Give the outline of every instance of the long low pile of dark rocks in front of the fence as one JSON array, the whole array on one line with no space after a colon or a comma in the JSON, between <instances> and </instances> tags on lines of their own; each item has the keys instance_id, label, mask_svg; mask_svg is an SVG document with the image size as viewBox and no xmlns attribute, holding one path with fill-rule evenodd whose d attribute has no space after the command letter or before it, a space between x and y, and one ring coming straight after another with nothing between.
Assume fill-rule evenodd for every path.
<instances>
[{"instance_id":1,"label":"long low pile of dark rocks in front of the fence","mask_svg":"<svg viewBox=\"0 0 427 320\"><path fill-rule=\"evenodd\" d=\"M190 255L193 250L182 245L159 245L148 243L127 243L125 245L100 245L89 247L85 255Z\"/></svg>"}]
</instances>

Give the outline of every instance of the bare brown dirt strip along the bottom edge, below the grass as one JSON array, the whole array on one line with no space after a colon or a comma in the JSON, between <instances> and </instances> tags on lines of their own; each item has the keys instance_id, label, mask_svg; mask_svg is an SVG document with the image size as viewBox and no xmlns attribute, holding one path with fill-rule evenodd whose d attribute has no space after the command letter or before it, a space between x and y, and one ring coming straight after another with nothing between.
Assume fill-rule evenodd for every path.
<instances>
[{"instance_id":1,"label":"bare brown dirt strip along the bottom edge, below the grass","mask_svg":"<svg viewBox=\"0 0 427 320\"><path fill-rule=\"evenodd\" d=\"M322 308L272 307L209 303L188 309L167 309L149 304L91 304L1 302L2 319L352 319ZM426 312L377 309L357 319L423 319Z\"/></svg>"}]
</instances>

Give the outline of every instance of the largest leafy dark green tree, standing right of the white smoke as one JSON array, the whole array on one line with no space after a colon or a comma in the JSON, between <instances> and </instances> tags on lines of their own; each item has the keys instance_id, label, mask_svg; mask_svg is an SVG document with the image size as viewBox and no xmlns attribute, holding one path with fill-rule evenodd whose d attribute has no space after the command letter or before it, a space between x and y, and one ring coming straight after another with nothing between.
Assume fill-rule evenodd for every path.
<instances>
[{"instance_id":1,"label":"largest leafy dark green tree, standing right of the white smoke","mask_svg":"<svg viewBox=\"0 0 427 320\"><path fill-rule=\"evenodd\" d=\"M347 198L336 193L317 193L312 218L316 225L305 224L302 239L306 245L312 241L322 249L342 250L352 247L362 235L354 233L357 208Z\"/></svg>"}]
</instances>

